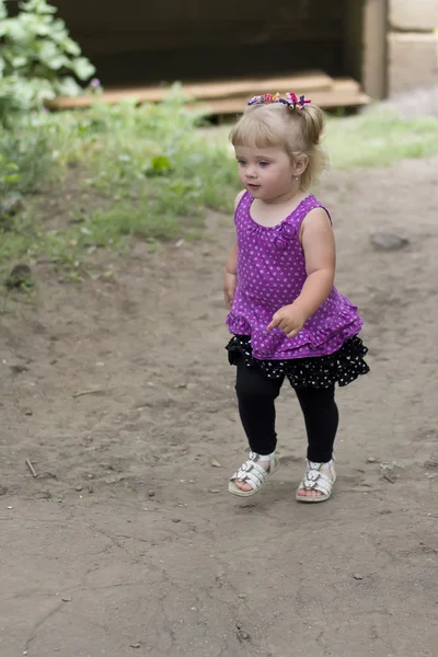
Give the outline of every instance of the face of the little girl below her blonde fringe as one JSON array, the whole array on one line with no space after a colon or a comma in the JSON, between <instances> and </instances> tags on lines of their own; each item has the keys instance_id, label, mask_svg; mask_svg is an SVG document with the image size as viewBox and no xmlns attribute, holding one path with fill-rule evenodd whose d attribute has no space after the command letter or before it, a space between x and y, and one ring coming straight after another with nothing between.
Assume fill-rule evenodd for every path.
<instances>
[{"instance_id":1,"label":"face of the little girl below her blonde fringe","mask_svg":"<svg viewBox=\"0 0 438 657\"><path fill-rule=\"evenodd\" d=\"M254 198L266 203L281 201L296 194L296 166L279 147L235 147L239 180Z\"/></svg>"}]
</instances>

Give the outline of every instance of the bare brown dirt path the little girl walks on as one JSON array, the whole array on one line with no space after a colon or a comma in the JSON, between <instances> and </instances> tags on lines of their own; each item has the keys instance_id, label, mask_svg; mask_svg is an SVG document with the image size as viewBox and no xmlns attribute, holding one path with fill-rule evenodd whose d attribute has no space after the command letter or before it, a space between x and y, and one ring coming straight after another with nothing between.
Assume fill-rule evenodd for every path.
<instances>
[{"instance_id":1,"label":"bare brown dirt path the little girl walks on","mask_svg":"<svg viewBox=\"0 0 438 657\"><path fill-rule=\"evenodd\" d=\"M280 472L250 502L227 493L244 448L223 350L229 218L203 243L108 255L115 276L81 289L38 267L37 303L1 318L1 657L437 654L437 170L321 189L372 367L339 391L326 505L293 502L304 437L286 388ZM411 244L377 252L374 230Z\"/></svg>"}]
</instances>

